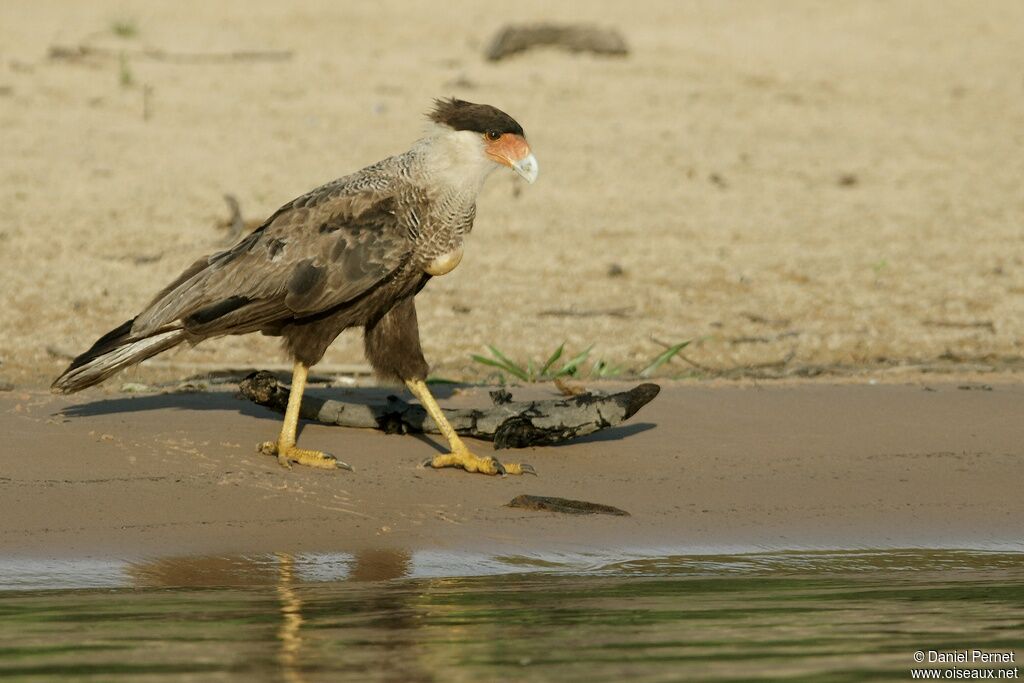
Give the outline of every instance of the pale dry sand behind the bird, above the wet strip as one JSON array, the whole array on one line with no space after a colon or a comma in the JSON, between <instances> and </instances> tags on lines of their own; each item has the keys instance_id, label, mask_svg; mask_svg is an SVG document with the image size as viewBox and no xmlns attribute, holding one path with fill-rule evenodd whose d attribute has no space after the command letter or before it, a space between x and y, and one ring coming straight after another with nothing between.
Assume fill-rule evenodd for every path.
<instances>
[{"instance_id":1,"label":"pale dry sand behind the bird, above the wet strip","mask_svg":"<svg viewBox=\"0 0 1024 683\"><path fill-rule=\"evenodd\" d=\"M542 19L632 53L483 60ZM110 56L48 57L81 44ZM438 375L485 377L486 343L636 368L685 339L699 368L670 376L1019 371L1021 44L1016 0L4 2L0 384L45 386L223 248L225 193L265 217L407 148L449 94L516 116L541 178L493 178L463 263L419 297ZM291 57L203 59L238 50ZM247 337L164 359L283 358ZM362 362L358 335L326 361Z\"/></svg>"}]
</instances>

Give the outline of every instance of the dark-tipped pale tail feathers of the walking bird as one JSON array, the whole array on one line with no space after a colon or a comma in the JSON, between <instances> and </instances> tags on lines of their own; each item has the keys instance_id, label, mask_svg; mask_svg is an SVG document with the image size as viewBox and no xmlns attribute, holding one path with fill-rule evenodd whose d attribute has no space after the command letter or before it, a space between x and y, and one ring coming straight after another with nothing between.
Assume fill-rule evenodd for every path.
<instances>
[{"instance_id":1,"label":"dark-tipped pale tail feathers of the walking bird","mask_svg":"<svg viewBox=\"0 0 1024 683\"><path fill-rule=\"evenodd\" d=\"M185 339L185 333L180 328L165 329L147 337L132 338L133 322L128 321L100 337L92 348L68 366L68 370L53 381L50 388L59 393L81 391L93 384L99 384L125 368L177 346Z\"/></svg>"}]
</instances>

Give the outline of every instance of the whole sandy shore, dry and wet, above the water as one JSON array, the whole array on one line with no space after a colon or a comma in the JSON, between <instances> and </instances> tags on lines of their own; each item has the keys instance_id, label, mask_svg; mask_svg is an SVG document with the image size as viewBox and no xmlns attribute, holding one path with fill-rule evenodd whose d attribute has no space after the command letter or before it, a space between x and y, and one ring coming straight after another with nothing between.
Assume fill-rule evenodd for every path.
<instances>
[{"instance_id":1,"label":"whole sandy shore, dry and wet, above the water","mask_svg":"<svg viewBox=\"0 0 1024 683\"><path fill-rule=\"evenodd\" d=\"M482 59L532 20L632 51ZM0 3L0 552L1020 549L1022 44L1017 0ZM81 45L100 52L51 55ZM220 58L251 50L285 57ZM258 336L46 393L229 245L223 195L259 220L406 150L439 95L513 114L541 177L497 174L462 264L418 297L434 374L493 379L470 359L488 343L630 370L691 340L659 374L699 381L514 454L538 479L424 471L430 440L321 426L303 443L356 473L284 472L253 451L276 417L229 392L121 391L287 362ZM325 358L362 364L357 334ZM632 516L503 507L519 494Z\"/></svg>"}]
</instances>

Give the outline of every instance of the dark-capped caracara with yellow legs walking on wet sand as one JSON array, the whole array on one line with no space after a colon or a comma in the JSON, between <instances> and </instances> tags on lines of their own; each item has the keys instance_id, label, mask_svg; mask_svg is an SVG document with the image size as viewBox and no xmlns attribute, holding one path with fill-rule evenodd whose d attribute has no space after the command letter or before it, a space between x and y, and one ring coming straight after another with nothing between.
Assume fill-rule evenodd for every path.
<instances>
[{"instance_id":1,"label":"dark-capped caracara with yellow legs walking on wet sand","mask_svg":"<svg viewBox=\"0 0 1024 683\"><path fill-rule=\"evenodd\" d=\"M259 450L325 469L351 466L296 443L309 369L344 330L362 328L378 377L403 382L447 440L424 465L489 475L536 474L472 453L427 387L415 297L455 269L486 178L507 167L528 183L539 166L522 126L489 104L438 98L404 153L312 189L233 247L200 258L137 315L100 337L54 380L71 393L182 343L224 335L280 337L294 361L281 433Z\"/></svg>"}]
</instances>

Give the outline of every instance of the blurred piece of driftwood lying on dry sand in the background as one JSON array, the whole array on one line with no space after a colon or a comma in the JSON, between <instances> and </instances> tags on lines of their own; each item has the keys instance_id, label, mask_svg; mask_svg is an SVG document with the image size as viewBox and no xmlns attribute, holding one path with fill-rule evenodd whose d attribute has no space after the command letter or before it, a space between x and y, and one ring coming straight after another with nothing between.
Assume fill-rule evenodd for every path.
<instances>
[{"instance_id":1,"label":"blurred piece of driftwood lying on dry sand in the background","mask_svg":"<svg viewBox=\"0 0 1024 683\"><path fill-rule=\"evenodd\" d=\"M535 24L529 26L507 26L503 28L487 46L485 55L492 61L504 59L510 54L523 52L534 47L554 45L571 52L594 52L596 54L629 54L626 39L614 29L592 26Z\"/></svg>"}]
</instances>

